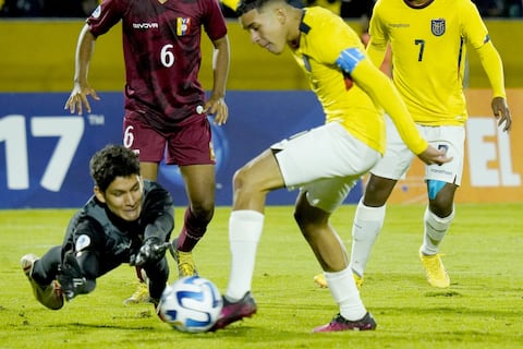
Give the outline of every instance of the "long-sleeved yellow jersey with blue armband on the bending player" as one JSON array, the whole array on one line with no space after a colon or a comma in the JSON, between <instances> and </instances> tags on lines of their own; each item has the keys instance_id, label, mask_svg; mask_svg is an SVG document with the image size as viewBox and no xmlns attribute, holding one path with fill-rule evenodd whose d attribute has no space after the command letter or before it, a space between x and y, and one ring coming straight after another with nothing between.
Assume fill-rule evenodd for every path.
<instances>
[{"instance_id":1,"label":"long-sleeved yellow jersey with blue armband on the bending player","mask_svg":"<svg viewBox=\"0 0 523 349\"><path fill-rule=\"evenodd\" d=\"M426 149L427 142L400 95L373 65L360 36L340 16L324 8L305 8L299 40L292 44L294 59L321 104L326 122L339 122L354 137L384 154L382 107L412 152Z\"/></svg>"}]
</instances>

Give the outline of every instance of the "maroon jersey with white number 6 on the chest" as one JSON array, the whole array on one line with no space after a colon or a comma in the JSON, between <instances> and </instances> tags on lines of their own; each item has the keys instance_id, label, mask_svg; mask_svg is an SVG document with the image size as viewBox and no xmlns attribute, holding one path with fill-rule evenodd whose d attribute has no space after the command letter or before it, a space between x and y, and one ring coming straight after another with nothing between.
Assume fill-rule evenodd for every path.
<instances>
[{"instance_id":1,"label":"maroon jersey with white number 6 on the chest","mask_svg":"<svg viewBox=\"0 0 523 349\"><path fill-rule=\"evenodd\" d=\"M104 0L87 19L95 37L122 22L125 108L166 129L204 105L198 81L202 27L211 40L227 35L217 0Z\"/></svg>"}]
</instances>

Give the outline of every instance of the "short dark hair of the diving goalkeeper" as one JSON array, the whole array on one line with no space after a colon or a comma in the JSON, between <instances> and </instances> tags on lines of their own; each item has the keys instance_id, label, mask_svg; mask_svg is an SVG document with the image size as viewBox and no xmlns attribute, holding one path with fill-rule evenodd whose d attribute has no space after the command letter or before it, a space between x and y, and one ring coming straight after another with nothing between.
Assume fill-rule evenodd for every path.
<instances>
[{"instance_id":1,"label":"short dark hair of the diving goalkeeper","mask_svg":"<svg viewBox=\"0 0 523 349\"><path fill-rule=\"evenodd\" d=\"M92 157L89 168L95 185L106 192L117 177L139 176L139 159L123 145L109 144Z\"/></svg>"}]
</instances>

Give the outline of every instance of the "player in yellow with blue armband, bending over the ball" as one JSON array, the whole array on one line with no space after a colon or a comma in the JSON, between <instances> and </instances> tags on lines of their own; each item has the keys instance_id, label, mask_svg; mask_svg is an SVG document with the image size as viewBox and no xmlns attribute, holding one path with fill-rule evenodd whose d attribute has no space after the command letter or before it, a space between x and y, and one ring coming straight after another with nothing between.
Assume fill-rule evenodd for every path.
<instances>
[{"instance_id":1,"label":"player in yellow with blue armband, bending over the ball","mask_svg":"<svg viewBox=\"0 0 523 349\"><path fill-rule=\"evenodd\" d=\"M384 117L377 106L391 116L404 142L426 164L450 159L419 136L392 83L365 56L358 35L341 17L323 8L297 9L284 0L242 0L236 11L253 43L275 55L291 49L323 106L326 123L271 145L235 172L229 220L231 272L212 329L257 310L251 286L266 195L282 188L300 188L294 217L329 274L340 309L314 332L374 329L376 322L360 298L329 217L385 151Z\"/></svg>"}]
</instances>

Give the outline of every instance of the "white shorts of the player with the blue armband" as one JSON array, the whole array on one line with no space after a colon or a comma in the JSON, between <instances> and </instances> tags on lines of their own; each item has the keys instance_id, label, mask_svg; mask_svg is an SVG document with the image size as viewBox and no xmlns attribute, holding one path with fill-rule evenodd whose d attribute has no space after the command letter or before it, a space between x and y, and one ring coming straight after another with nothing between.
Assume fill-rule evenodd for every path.
<instances>
[{"instance_id":1,"label":"white shorts of the player with the blue armband","mask_svg":"<svg viewBox=\"0 0 523 349\"><path fill-rule=\"evenodd\" d=\"M299 133L270 147L288 189L307 191L311 205L333 212L380 154L338 122Z\"/></svg>"}]
</instances>

